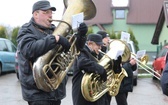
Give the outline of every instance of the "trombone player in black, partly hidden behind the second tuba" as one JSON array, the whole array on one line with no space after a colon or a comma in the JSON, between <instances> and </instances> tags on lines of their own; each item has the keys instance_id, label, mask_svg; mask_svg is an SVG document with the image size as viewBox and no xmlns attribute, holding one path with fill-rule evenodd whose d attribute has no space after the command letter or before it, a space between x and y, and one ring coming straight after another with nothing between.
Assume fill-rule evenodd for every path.
<instances>
[{"instance_id":1,"label":"trombone player in black, partly hidden behind the second tuba","mask_svg":"<svg viewBox=\"0 0 168 105\"><path fill-rule=\"evenodd\" d=\"M108 52L108 50L107 50L108 45L109 45L109 44L107 44L109 42L108 34L105 31L102 31L102 30L98 31L97 34L102 35L102 37L104 38L104 40L103 40L104 43L105 43L104 45L106 45L101 50L104 53ZM119 62L121 63L121 61L119 59L118 60L113 60L113 61L115 63L114 66L116 64L119 64ZM133 59L133 58L130 58L129 61L123 63L121 66L126 70L126 72L128 74L128 77L123 78L123 80L121 82L121 85L120 85L119 92L115 96L115 99L116 99L117 105L127 105L128 92L133 91L133 71L135 71L136 68L137 68L136 60ZM115 70L115 69L118 69L118 67L113 67L115 73L119 72L119 70L117 70L117 71ZM110 104L112 96L107 94L107 97L108 97L109 104Z\"/></svg>"}]
</instances>

